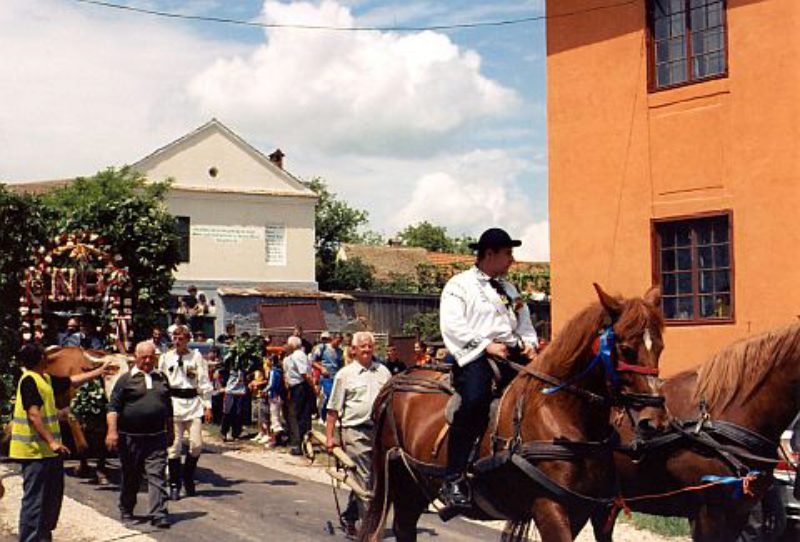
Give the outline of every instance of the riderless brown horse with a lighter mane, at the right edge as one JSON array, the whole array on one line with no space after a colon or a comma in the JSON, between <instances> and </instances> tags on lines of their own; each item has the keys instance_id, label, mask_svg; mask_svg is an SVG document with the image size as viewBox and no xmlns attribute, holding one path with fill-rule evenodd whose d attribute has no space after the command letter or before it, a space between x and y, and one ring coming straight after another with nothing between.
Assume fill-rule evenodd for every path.
<instances>
[{"instance_id":1,"label":"riderless brown horse with a lighter mane, at the right edge","mask_svg":"<svg viewBox=\"0 0 800 542\"><path fill-rule=\"evenodd\" d=\"M676 430L653 439L664 445L645 440L638 454L630 446L615 452L622 497L633 510L688 518L694 540L735 540L769 488L781 433L800 410L800 324L737 341L661 390ZM634 441L626 427L620 432L623 444ZM739 484L702 480L748 471L752 482L740 496ZM685 490L704 485L710 487ZM646 497L667 492L676 493ZM592 518L598 541L612 540L614 516L599 511Z\"/></svg>"}]
</instances>

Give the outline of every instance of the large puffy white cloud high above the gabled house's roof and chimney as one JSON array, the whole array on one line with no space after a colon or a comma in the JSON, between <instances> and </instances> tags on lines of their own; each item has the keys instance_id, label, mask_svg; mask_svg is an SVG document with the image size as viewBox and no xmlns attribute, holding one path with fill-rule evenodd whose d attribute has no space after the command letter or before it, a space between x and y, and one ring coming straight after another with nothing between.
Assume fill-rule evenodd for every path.
<instances>
[{"instance_id":1,"label":"large puffy white cloud high above the gabled house's roof and chimney","mask_svg":"<svg viewBox=\"0 0 800 542\"><path fill-rule=\"evenodd\" d=\"M330 0L267 1L263 15L268 23L358 25ZM201 110L289 145L434 154L457 130L520 104L480 68L477 53L436 32L271 29L251 54L200 73L189 92Z\"/></svg>"}]
</instances>

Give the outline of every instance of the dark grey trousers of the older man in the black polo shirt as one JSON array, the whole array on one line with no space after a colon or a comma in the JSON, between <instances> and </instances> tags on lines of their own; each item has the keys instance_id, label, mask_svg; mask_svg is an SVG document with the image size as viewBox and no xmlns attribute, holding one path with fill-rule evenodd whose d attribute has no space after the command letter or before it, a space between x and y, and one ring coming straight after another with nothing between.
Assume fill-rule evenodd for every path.
<instances>
[{"instance_id":1,"label":"dark grey trousers of the older man in the black polo shirt","mask_svg":"<svg viewBox=\"0 0 800 542\"><path fill-rule=\"evenodd\" d=\"M150 502L148 515L151 518L167 515L167 434L132 435L120 433L119 461L122 467L122 484L119 493L121 512L133 513L136 494L142 483L142 474L147 477L147 496Z\"/></svg>"}]
</instances>

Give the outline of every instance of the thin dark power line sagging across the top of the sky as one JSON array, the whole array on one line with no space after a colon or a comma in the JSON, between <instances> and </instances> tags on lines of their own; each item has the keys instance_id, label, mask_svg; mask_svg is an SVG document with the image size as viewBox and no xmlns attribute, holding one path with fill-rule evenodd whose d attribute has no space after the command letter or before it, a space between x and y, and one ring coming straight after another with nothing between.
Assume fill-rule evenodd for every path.
<instances>
[{"instance_id":1,"label":"thin dark power line sagging across the top of the sky","mask_svg":"<svg viewBox=\"0 0 800 542\"><path fill-rule=\"evenodd\" d=\"M159 11L155 9L146 9L135 6L114 4L112 2L104 2L102 0L75 0L75 1L82 4L91 4L94 6L100 6L104 8L117 9L121 11L130 11L135 13L141 13L144 15L153 15L157 17L167 17L170 19L184 19L191 21L202 21L207 23L235 24L240 26L252 26L258 28L288 28L295 30L332 30L341 32L422 32L425 30L458 30L458 29L469 29L469 28L483 28L492 26L509 26L515 24L526 24L537 21L544 21L548 19L559 19L583 13L590 13L594 11L601 11L606 9L628 6L631 4L638 3L640 0L624 0L622 2L617 2L615 4L607 4L604 6L596 6L588 9L557 13L555 15L532 15L530 17L520 17L518 19L505 19L500 21L479 21L473 23L439 24L430 26L327 26L327 25L310 25L310 24L261 23L257 21L230 19L227 17L211 17L207 15L187 15L183 13Z\"/></svg>"}]
</instances>

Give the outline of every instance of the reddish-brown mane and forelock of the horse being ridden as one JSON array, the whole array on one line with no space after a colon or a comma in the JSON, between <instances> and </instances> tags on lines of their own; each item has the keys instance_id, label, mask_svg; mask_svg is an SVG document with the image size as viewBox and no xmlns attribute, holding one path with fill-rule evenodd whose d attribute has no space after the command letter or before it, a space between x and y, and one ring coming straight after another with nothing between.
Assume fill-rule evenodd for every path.
<instances>
[{"instance_id":1,"label":"reddish-brown mane and forelock of the horse being ridden","mask_svg":"<svg viewBox=\"0 0 800 542\"><path fill-rule=\"evenodd\" d=\"M641 298L620 299L622 306L619 320L614 324L617 334L630 336L664 329L664 318L658 308L652 307ZM540 356L543 366L551 368L553 376L563 378L577 362L584 351L591 347L597 332L607 321L606 309L598 302L592 303L571 318Z\"/></svg>"}]
</instances>

